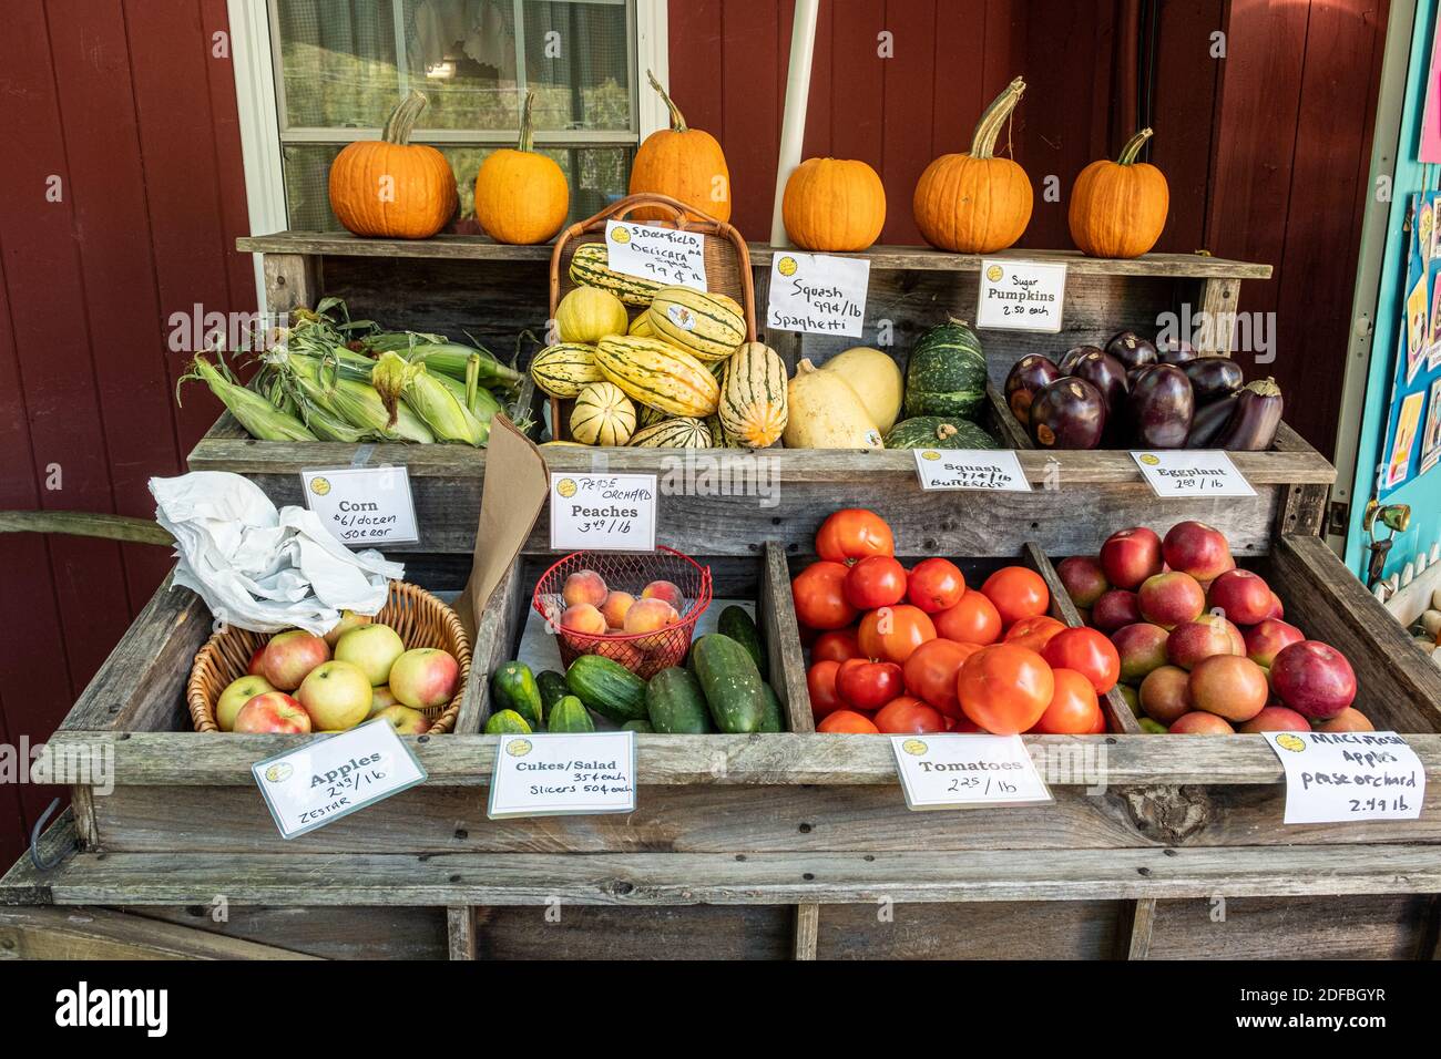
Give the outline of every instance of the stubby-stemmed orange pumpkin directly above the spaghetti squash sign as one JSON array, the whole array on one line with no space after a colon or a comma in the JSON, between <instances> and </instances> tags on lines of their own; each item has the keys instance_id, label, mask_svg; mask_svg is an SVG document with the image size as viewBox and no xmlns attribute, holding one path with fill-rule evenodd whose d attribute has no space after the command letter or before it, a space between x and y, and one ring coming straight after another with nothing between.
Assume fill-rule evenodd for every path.
<instances>
[{"instance_id":1,"label":"stubby-stemmed orange pumpkin directly above the spaghetti squash sign","mask_svg":"<svg viewBox=\"0 0 1441 1059\"><path fill-rule=\"evenodd\" d=\"M863 251L886 223L886 189L863 161L807 158L785 182L781 218L803 251Z\"/></svg>"}]
</instances>

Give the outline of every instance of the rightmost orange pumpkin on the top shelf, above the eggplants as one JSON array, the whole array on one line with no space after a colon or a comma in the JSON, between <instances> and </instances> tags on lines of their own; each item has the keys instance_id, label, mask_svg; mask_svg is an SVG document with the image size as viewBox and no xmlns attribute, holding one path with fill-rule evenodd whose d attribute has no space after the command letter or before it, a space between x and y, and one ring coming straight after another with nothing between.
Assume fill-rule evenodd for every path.
<instances>
[{"instance_id":1,"label":"rightmost orange pumpkin on the top shelf, above the eggplants","mask_svg":"<svg viewBox=\"0 0 1441 1059\"><path fill-rule=\"evenodd\" d=\"M1136 156L1151 138L1143 128L1115 161L1092 161L1071 189L1071 239L1092 258L1138 258L1161 238L1170 187L1156 166Z\"/></svg>"}]
</instances>

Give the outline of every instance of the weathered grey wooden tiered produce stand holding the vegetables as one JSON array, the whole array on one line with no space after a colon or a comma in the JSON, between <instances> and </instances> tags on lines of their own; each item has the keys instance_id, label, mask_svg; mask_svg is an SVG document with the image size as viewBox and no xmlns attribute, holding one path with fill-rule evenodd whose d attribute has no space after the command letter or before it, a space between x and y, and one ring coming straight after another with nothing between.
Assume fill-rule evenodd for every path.
<instances>
[{"instance_id":1,"label":"weathered grey wooden tiered produce stand holding the vegetables","mask_svg":"<svg viewBox=\"0 0 1441 1059\"><path fill-rule=\"evenodd\" d=\"M549 248L285 233L241 249L265 254L272 308L339 295L356 317L468 330L497 350L517 321L545 316ZM769 254L751 248L759 305ZM909 248L866 256L867 317L893 321L898 356L947 307L974 304L974 258ZM1144 329L1182 301L1233 307L1242 278L1268 274L1206 256L1062 256L1072 265L1066 333L981 333L993 380L1025 352ZM767 340L794 363L869 334L834 350L810 337ZM576 471L598 455L543 452L550 470ZM659 471L676 458L601 455L611 471ZM284 841L249 765L298 741L187 730L184 680L210 615L190 592L163 586L50 741L46 764L73 807L42 841L42 860L59 863L42 870L24 859L0 883L0 945L24 955L1437 955L1441 669L1316 536L1334 473L1294 434L1282 431L1270 452L1236 454L1257 497L1223 501L1156 500L1125 452L1026 450L1036 491L986 496L922 493L911 452L764 455L778 473L774 507L667 494L657 540L709 563L718 598L755 602L790 732L640 735L635 813L490 821L497 738L478 733L490 696L476 679L454 733L414 739L428 782ZM366 461L409 468L421 542L398 549L408 578L458 589L484 452L256 442L225 418L190 465L246 474L277 503L298 503L301 468ZM1053 804L909 811L888 741L811 726L790 578L824 516L846 506L882 511L899 558L954 558L971 584L1003 563L1030 565L1050 585L1053 617L1072 625L1079 615L1053 562L1094 553L1124 526L1218 526L1307 634L1350 658L1357 707L1408 733L1428 777L1421 818L1287 827L1282 769L1259 736L1140 735L1114 694L1108 735L1026 736ZM478 676L516 654L550 562L545 527L542 513L480 615ZM97 775L114 790L102 792Z\"/></svg>"}]
</instances>

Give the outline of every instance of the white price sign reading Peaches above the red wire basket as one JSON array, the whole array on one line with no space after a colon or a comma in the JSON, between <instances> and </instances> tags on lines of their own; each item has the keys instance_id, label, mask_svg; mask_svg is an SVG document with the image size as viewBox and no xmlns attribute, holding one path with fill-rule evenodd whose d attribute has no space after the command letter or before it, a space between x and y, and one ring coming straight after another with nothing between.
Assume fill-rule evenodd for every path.
<instances>
[{"instance_id":1,"label":"white price sign reading Peaches above the red wire basket","mask_svg":"<svg viewBox=\"0 0 1441 1059\"><path fill-rule=\"evenodd\" d=\"M656 550L654 474L550 475L550 548Z\"/></svg>"}]
</instances>

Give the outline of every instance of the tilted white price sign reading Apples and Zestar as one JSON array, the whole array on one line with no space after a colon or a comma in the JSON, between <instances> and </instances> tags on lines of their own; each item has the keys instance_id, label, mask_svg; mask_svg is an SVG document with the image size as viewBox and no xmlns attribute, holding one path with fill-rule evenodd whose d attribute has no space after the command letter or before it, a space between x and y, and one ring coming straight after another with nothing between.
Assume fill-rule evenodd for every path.
<instances>
[{"instance_id":1,"label":"tilted white price sign reading Apples and Zestar","mask_svg":"<svg viewBox=\"0 0 1441 1059\"><path fill-rule=\"evenodd\" d=\"M376 719L251 765L281 839L314 831L425 781L391 722Z\"/></svg>"}]
</instances>

